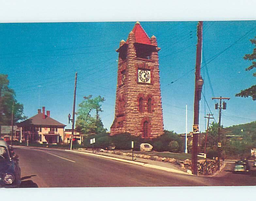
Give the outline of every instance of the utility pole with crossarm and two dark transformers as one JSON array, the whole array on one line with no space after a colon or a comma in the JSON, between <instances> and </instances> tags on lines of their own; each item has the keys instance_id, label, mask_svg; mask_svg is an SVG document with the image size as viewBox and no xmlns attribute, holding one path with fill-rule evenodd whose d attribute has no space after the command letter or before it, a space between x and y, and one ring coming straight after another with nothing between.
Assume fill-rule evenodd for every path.
<instances>
[{"instance_id":1,"label":"utility pole with crossarm and two dark transformers","mask_svg":"<svg viewBox=\"0 0 256 201\"><path fill-rule=\"evenodd\" d=\"M226 110L227 108L227 103L225 101L223 101L223 107L222 107L222 100L230 100L230 98L223 98L223 97L219 97L219 98L212 98L212 100L214 99L219 99L219 105L218 103L215 104L215 109L219 109L219 123L218 123L218 169L220 170L220 149L221 149L221 142L220 142L220 126L221 126L221 109Z\"/></svg>"}]
</instances>

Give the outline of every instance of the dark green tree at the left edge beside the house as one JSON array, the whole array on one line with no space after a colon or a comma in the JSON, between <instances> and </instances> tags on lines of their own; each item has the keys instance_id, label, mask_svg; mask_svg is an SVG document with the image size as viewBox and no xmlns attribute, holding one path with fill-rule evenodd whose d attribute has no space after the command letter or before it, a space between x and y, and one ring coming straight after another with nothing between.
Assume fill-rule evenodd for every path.
<instances>
[{"instance_id":1,"label":"dark green tree at the left edge beside the house","mask_svg":"<svg viewBox=\"0 0 256 201\"><path fill-rule=\"evenodd\" d=\"M16 123L24 120L23 104L15 99L15 92L8 87L8 75L0 74L0 124L11 125L11 116L13 109L13 120Z\"/></svg>"}]
</instances>

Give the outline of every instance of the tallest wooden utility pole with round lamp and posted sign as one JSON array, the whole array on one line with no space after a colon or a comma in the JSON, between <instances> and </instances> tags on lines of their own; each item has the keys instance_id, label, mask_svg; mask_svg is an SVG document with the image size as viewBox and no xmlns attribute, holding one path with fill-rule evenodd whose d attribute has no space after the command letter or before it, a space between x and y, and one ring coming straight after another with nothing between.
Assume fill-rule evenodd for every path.
<instances>
[{"instance_id":1,"label":"tallest wooden utility pole with round lamp and posted sign","mask_svg":"<svg viewBox=\"0 0 256 201\"><path fill-rule=\"evenodd\" d=\"M192 171L197 175L197 155L198 155L198 134L199 131L199 105L203 87L203 79L200 69L202 62L202 30L203 22L199 21L197 26L197 57L196 57L196 78L195 78L195 100L194 100L194 125L193 125L193 144L192 144Z\"/></svg>"}]
</instances>

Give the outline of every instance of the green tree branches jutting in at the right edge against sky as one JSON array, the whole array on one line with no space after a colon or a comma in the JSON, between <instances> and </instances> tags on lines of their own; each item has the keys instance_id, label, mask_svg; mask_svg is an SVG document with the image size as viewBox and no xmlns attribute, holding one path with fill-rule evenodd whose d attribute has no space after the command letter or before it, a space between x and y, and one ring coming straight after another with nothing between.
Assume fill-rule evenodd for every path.
<instances>
[{"instance_id":1,"label":"green tree branches jutting in at the right edge against sky","mask_svg":"<svg viewBox=\"0 0 256 201\"><path fill-rule=\"evenodd\" d=\"M256 46L256 37L255 37L255 39L251 39L250 41L252 44L254 44ZM253 49L252 54L246 54L244 56L244 59L252 61L252 65L249 66L246 69L246 71L256 68L256 62L253 61L256 59L256 48ZM253 76L256 77L256 73L253 73ZM241 92L236 94L235 96L240 96L240 97L245 97L245 98L250 96L252 98L252 100L256 100L256 85L253 85L253 86L249 87L248 89L241 90Z\"/></svg>"}]
</instances>

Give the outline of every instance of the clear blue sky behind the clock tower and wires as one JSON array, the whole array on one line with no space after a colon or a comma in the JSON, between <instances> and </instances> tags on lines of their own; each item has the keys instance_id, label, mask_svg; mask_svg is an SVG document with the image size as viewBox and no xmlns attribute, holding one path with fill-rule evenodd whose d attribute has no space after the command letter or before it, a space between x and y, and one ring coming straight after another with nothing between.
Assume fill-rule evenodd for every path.
<instances>
[{"instance_id":1,"label":"clear blue sky behind the clock tower and wires","mask_svg":"<svg viewBox=\"0 0 256 201\"><path fill-rule=\"evenodd\" d=\"M164 128L185 132L187 103L188 131L191 131L198 22L140 23L149 37L156 36L161 47ZM67 116L72 113L77 72L76 109L84 96L101 95L106 100L100 116L109 130L114 120L117 84L115 50L121 39L127 39L134 25L135 22L1 23L0 72L8 74L9 86L24 104L26 116L34 116L37 109L45 106L51 117L68 125L66 128L71 128ZM255 36L255 21L203 23L203 93L216 121L218 111L211 99L213 94L231 98L227 110L223 111L224 127L255 121L255 101L235 97L241 89L255 85L252 72L245 71L251 62L243 59L245 54L252 53L254 46L249 39ZM201 131L205 130L205 113L210 112L207 103L202 96Z\"/></svg>"}]
</instances>

